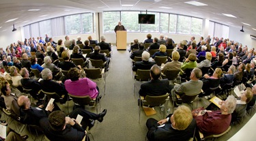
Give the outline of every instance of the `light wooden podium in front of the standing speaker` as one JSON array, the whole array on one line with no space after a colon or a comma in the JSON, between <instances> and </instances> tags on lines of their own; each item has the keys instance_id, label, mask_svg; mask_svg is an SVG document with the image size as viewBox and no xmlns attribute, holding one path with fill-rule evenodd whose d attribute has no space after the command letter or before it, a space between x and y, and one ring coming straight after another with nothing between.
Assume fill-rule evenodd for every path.
<instances>
[{"instance_id":1,"label":"light wooden podium in front of the standing speaker","mask_svg":"<svg viewBox=\"0 0 256 141\"><path fill-rule=\"evenodd\" d=\"M126 50L127 31L117 31L117 50Z\"/></svg>"}]
</instances>

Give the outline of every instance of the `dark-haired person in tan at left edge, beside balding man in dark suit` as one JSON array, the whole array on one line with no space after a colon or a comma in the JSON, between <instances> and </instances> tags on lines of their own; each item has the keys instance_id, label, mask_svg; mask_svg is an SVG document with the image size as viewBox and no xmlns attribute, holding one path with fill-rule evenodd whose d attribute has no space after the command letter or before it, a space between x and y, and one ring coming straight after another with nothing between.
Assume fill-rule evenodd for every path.
<instances>
[{"instance_id":1,"label":"dark-haired person in tan at left edge, beside balding man in dark suit","mask_svg":"<svg viewBox=\"0 0 256 141\"><path fill-rule=\"evenodd\" d=\"M6 80L1 81L1 93L3 94L6 109L9 110L12 115L18 117L20 112L18 110L17 97L16 95L12 95L10 84Z\"/></svg>"}]
</instances>

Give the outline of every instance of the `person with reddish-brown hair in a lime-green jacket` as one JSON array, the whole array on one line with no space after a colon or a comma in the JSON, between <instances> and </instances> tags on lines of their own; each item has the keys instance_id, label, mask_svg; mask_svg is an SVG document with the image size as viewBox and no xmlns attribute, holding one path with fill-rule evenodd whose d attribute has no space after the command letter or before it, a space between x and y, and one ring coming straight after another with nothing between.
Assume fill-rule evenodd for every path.
<instances>
[{"instance_id":1,"label":"person with reddish-brown hair in a lime-green jacket","mask_svg":"<svg viewBox=\"0 0 256 141\"><path fill-rule=\"evenodd\" d=\"M186 69L190 68L193 69L197 67L197 57L195 56L195 54L191 53L188 55L188 58L184 61L184 63L182 64L182 71L185 72ZM183 74L181 72L181 74Z\"/></svg>"}]
</instances>

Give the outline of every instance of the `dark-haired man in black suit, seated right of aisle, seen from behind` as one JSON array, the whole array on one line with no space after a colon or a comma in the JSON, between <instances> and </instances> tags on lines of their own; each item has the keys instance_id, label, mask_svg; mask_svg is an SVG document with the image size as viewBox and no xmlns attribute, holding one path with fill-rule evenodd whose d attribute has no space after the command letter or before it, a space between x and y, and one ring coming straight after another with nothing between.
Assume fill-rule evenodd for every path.
<instances>
[{"instance_id":1,"label":"dark-haired man in black suit, seated right of aisle, seen from behind","mask_svg":"<svg viewBox=\"0 0 256 141\"><path fill-rule=\"evenodd\" d=\"M141 84L139 95L145 97L146 95L158 96L171 93L172 87L169 85L168 79L160 80L161 69L158 65L153 65L150 69L151 80Z\"/></svg>"}]
</instances>

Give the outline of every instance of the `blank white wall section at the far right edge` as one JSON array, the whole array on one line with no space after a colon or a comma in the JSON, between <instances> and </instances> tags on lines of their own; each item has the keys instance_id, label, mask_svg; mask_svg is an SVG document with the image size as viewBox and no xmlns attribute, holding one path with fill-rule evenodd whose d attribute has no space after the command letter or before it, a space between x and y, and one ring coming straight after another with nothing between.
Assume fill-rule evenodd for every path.
<instances>
[{"instance_id":1,"label":"blank white wall section at the far right edge","mask_svg":"<svg viewBox=\"0 0 256 141\"><path fill-rule=\"evenodd\" d=\"M251 33L249 31L240 31L241 28L229 27L229 40L234 40L236 42L242 43L243 46L248 46L248 48L256 47L256 40L250 37Z\"/></svg>"}]
</instances>

